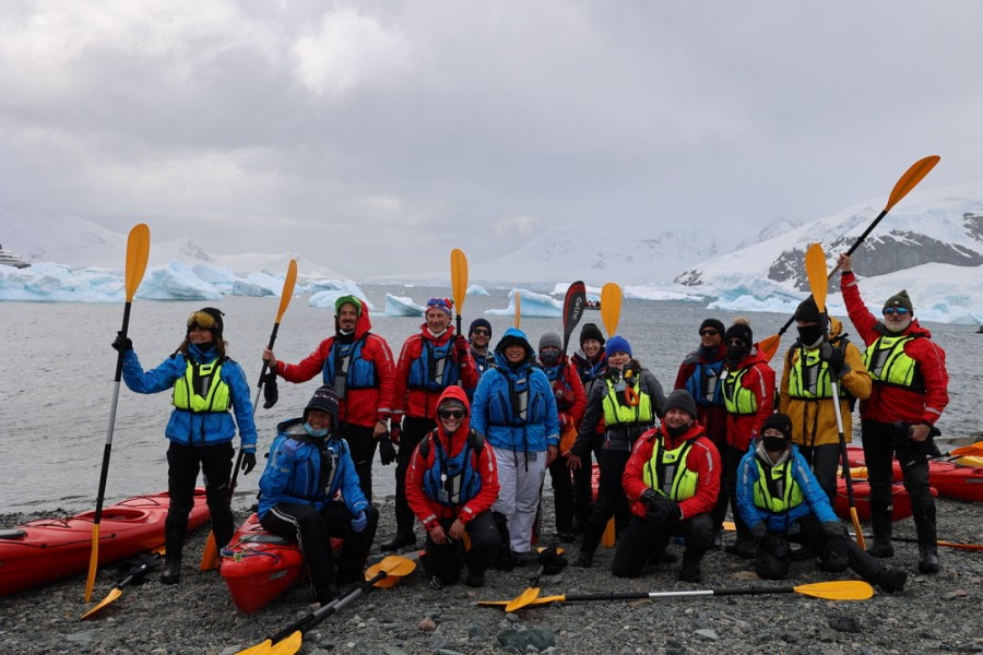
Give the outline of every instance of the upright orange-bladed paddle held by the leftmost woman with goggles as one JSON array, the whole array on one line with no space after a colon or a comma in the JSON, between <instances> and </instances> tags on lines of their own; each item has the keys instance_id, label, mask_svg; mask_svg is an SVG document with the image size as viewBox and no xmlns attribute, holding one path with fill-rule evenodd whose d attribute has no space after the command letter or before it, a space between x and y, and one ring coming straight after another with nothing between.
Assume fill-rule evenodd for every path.
<instances>
[{"instance_id":1,"label":"upright orange-bladed paddle held by the leftmost woman with goggles","mask_svg":"<svg viewBox=\"0 0 983 655\"><path fill-rule=\"evenodd\" d=\"M146 260L150 258L150 228L144 223L138 223L130 230L127 239L127 271L126 290L127 303L123 306L123 322L119 335L123 338L130 327L130 306L137 287L143 279L146 271ZM119 402L119 381L122 378L123 350L116 356L116 378L112 381L112 400L109 402L109 427L106 430L106 445L103 448L103 468L99 472L99 490L96 495L96 510L92 519L92 556L88 559L88 576L85 579L85 602L92 597L92 587L95 585L96 570L99 568L99 521L103 517L103 501L106 496L106 479L109 475L109 454L112 451L112 429L116 427L116 405Z\"/></svg>"}]
</instances>

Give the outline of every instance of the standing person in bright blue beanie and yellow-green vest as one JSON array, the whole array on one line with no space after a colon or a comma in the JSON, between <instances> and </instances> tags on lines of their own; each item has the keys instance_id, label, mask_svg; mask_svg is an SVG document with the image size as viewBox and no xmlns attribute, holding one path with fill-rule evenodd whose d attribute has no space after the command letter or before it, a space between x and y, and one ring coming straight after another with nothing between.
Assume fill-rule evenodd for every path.
<instances>
[{"instance_id":1,"label":"standing person in bright blue beanie and yellow-green vest","mask_svg":"<svg viewBox=\"0 0 983 655\"><path fill-rule=\"evenodd\" d=\"M631 345L625 337L611 337L605 350L607 372L602 383L591 390L577 441L567 456L571 469L582 466L580 457L590 451L596 427L603 419L604 448L599 464L597 501L584 527L580 553L573 561L575 567L582 568L593 563L604 528L619 507L627 512L628 499L621 487L625 465L635 441L655 425L665 403L662 384L631 357Z\"/></svg>"}]
</instances>

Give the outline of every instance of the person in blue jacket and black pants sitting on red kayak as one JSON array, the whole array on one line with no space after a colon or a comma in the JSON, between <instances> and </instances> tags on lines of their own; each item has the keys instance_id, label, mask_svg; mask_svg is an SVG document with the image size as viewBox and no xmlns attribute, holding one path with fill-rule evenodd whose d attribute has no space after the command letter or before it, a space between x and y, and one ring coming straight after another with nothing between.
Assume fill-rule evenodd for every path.
<instances>
[{"instance_id":1,"label":"person in blue jacket and black pants sitting on red kayak","mask_svg":"<svg viewBox=\"0 0 983 655\"><path fill-rule=\"evenodd\" d=\"M259 484L260 524L300 545L321 605L339 597L339 584L362 580L379 522L358 485L348 444L334 431L336 417L337 395L325 384L303 418L276 426ZM345 540L336 561L331 537Z\"/></svg>"}]
</instances>

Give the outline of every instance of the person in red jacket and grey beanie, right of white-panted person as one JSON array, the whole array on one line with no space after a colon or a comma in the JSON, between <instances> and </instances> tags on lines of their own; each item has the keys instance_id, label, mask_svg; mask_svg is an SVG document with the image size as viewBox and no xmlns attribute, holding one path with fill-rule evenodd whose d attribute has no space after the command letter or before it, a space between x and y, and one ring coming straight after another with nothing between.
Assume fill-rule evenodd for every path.
<instances>
[{"instance_id":1,"label":"person in red jacket and grey beanie, right of white-panted person","mask_svg":"<svg viewBox=\"0 0 983 655\"><path fill-rule=\"evenodd\" d=\"M540 366L556 396L557 420L560 427L559 454L549 465L549 480L553 485L553 507L556 532L560 541L572 541L573 534L573 485L571 472L567 468L570 446L577 439L577 428L587 407L587 394L572 364L561 353L562 341L556 332L547 332L540 337Z\"/></svg>"}]
</instances>

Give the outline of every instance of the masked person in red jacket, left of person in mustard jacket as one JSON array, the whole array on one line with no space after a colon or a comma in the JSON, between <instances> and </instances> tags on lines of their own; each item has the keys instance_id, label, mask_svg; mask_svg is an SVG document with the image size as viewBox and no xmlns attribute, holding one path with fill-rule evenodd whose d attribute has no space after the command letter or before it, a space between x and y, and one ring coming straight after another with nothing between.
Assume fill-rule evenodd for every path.
<instances>
[{"instance_id":1,"label":"masked person in red jacket, left of person in mustard jacket","mask_svg":"<svg viewBox=\"0 0 983 655\"><path fill-rule=\"evenodd\" d=\"M723 371L723 397L727 408L727 441L723 480L731 499L737 539L725 550L744 559L755 557L755 544L737 511L737 465L748 445L761 433L761 424L774 410L774 370L758 350L747 319L738 317L724 334L727 357Z\"/></svg>"}]
</instances>

